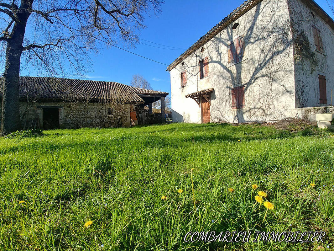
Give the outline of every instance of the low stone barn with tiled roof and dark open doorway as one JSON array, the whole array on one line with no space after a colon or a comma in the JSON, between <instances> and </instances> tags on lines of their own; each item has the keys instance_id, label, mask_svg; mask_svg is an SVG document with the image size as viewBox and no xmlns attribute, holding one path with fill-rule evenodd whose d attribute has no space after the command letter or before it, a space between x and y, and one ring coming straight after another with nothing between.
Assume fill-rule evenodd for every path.
<instances>
[{"instance_id":1,"label":"low stone barn with tiled roof and dark open doorway","mask_svg":"<svg viewBox=\"0 0 334 251\"><path fill-rule=\"evenodd\" d=\"M164 118L167 95L117 82L20 77L22 128L130 127L138 122L138 106L152 113L159 99Z\"/></svg>"}]
</instances>

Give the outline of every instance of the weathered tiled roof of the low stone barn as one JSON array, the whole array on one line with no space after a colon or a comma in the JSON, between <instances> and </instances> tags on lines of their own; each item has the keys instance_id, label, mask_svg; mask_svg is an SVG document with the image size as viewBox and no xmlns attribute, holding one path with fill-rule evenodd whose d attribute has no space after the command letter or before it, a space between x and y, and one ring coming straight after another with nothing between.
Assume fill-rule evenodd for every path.
<instances>
[{"instance_id":1,"label":"weathered tiled roof of the low stone barn","mask_svg":"<svg viewBox=\"0 0 334 251\"><path fill-rule=\"evenodd\" d=\"M125 103L144 103L140 95L167 96L167 92L136 88L117 82L94 80L20 77L19 95L38 99L68 99L88 97L93 99L118 100Z\"/></svg>"}]
</instances>

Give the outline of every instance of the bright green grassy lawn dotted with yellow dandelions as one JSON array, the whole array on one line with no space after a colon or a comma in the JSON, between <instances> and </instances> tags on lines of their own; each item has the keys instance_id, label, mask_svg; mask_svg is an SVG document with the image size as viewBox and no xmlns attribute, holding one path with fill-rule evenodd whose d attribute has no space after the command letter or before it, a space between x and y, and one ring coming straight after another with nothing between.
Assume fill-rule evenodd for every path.
<instances>
[{"instance_id":1,"label":"bright green grassy lawn dotted with yellow dandelions","mask_svg":"<svg viewBox=\"0 0 334 251\"><path fill-rule=\"evenodd\" d=\"M1 138L0 250L334 250L333 134L168 124ZM275 207L264 222L258 191ZM326 236L183 241L189 231L256 230Z\"/></svg>"}]
</instances>

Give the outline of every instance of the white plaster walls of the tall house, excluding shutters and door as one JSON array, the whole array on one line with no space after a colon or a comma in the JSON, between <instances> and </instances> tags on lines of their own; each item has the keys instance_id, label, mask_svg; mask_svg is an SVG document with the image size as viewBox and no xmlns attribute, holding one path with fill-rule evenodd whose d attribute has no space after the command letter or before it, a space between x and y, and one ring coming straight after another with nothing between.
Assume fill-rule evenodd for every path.
<instances>
[{"instance_id":1,"label":"white plaster walls of the tall house, excluding shutters and door","mask_svg":"<svg viewBox=\"0 0 334 251\"><path fill-rule=\"evenodd\" d=\"M334 60L331 49L334 48L333 29L318 14L314 15L301 0L258 1L192 54L181 58L170 70L173 122L201 123L201 108L185 95L208 88L214 88L211 93L211 122L294 117L299 107L320 106L320 73L327 78L327 104L330 104L334 82L334 64L331 63ZM236 29L232 29L234 23L239 23ZM312 25L321 29L325 55L314 52ZM303 55L296 55L294 37L302 29L312 52L319 58L319 65L314 71L307 63L302 64L298 60ZM228 45L239 36L244 38L242 60L236 64L228 63ZM205 57L208 57L209 74L200 79L199 60ZM181 87L182 71L187 74L184 87ZM307 90L306 102L298 91L300 83L303 83L303 90ZM244 87L245 106L232 109L231 89L238 86ZM302 94L306 95L305 91Z\"/></svg>"}]
</instances>

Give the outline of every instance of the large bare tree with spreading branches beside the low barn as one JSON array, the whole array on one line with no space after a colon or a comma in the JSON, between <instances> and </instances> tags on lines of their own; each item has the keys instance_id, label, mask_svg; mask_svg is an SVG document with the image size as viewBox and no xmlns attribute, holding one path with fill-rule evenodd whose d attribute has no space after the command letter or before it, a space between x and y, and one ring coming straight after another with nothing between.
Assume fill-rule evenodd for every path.
<instances>
[{"instance_id":1,"label":"large bare tree with spreading branches beside the low barn","mask_svg":"<svg viewBox=\"0 0 334 251\"><path fill-rule=\"evenodd\" d=\"M88 53L101 42L138 41L144 16L159 12L161 0L0 0L0 41L5 70L1 134L20 128L20 66L54 76L89 68ZM26 27L32 27L26 33ZM30 30L30 29L29 29ZM67 62L67 63L65 63Z\"/></svg>"}]
</instances>

